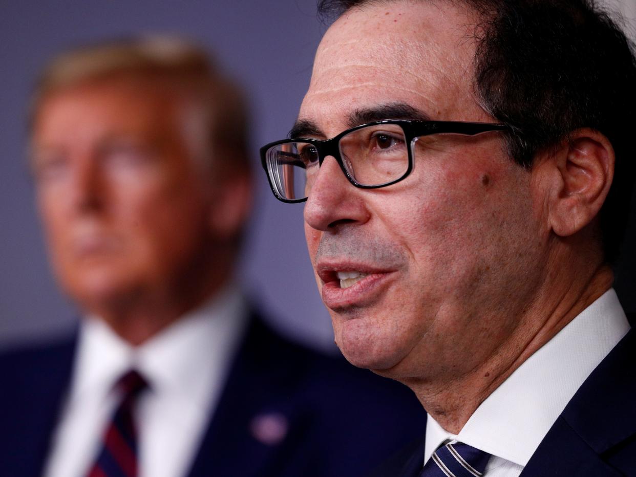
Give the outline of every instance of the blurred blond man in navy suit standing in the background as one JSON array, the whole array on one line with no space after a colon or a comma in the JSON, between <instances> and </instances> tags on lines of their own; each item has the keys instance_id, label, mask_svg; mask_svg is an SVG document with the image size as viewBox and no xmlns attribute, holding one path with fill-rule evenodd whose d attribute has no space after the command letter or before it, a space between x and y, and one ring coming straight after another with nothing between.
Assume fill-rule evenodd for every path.
<instances>
[{"instance_id":1,"label":"blurred blond man in navy suit standing in the background","mask_svg":"<svg viewBox=\"0 0 636 477\"><path fill-rule=\"evenodd\" d=\"M204 52L65 53L31 113L50 258L83 319L0 357L0 474L354 476L417 434L413 396L289 342L242 297L245 106Z\"/></svg>"}]
</instances>

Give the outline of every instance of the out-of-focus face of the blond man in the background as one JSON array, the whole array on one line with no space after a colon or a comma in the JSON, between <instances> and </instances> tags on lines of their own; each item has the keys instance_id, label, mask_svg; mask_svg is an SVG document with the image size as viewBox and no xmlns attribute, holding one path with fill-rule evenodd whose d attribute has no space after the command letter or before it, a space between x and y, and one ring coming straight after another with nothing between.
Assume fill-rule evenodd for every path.
<instances>
[{"instance_id":1,"label":"out-of-focus face of the blond man in the background","mask_svg":"<svg viewBox=\"0 0 636 477\"><path fill-rule=\"evenodd\" d=\"M181 112L164 90L125 80L53 93L39 108L32 167L50 256L89 311L172 293L201 266L210 184Z\"/></svg>"}]
</instances>

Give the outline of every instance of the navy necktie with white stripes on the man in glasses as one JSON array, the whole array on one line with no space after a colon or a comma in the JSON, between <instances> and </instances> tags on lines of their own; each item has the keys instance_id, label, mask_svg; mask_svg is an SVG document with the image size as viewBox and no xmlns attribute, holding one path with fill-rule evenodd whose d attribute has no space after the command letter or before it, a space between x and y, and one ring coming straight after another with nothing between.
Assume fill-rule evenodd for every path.
<instances>
[{"instance_id":1,"label":"navy necktie with white stripes on the man in glasses","mask_svg":"<svg viewBox=\"0 0 636 477\"><path fill-rule=\"evenodd\" d=\"M461 442L448 443L436 450L419 477L480 477L490 454Z\"/></svg>"}]
</instances>

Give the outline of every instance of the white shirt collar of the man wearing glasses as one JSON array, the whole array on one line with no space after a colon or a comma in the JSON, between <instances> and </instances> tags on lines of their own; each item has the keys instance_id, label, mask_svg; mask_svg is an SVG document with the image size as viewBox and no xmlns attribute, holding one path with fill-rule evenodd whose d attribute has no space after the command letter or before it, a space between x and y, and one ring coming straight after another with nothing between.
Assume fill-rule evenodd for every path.
<instances>
[{"instance_id":1,"label":"white shirt collar of the man wearing glasses","mask_svg":"<svg viewBox=\"0 0 636 477\"><path fill-rule=\"evenodd\" d=\"M459 434L446 432L429 415L425 461L456 439L492 454L487 477L518 477L577 389L629 329L610 289L495 389Z\"/></svg>"}]
</instances>

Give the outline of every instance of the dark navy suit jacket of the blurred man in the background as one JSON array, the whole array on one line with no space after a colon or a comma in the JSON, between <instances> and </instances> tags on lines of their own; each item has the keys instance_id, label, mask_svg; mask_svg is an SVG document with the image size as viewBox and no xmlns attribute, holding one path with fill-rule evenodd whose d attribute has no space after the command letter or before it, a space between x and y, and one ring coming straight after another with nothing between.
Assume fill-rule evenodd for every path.
<instances>
[{"instance_id":1,"label":"dark navy suit jacket of the blurred man in the background","mask_svg":"<svg viewBox=\"0 0 636 477\"><path fill-rule=\"evenodd\" d=\"M73 336L0 356L0 475L41 474L75 348ZM287 423L280 441L254 433L264 415ZM424 425L406 387L292 343L254 315L189 476L360 476Z\"/></svg>"}]
</instances>

